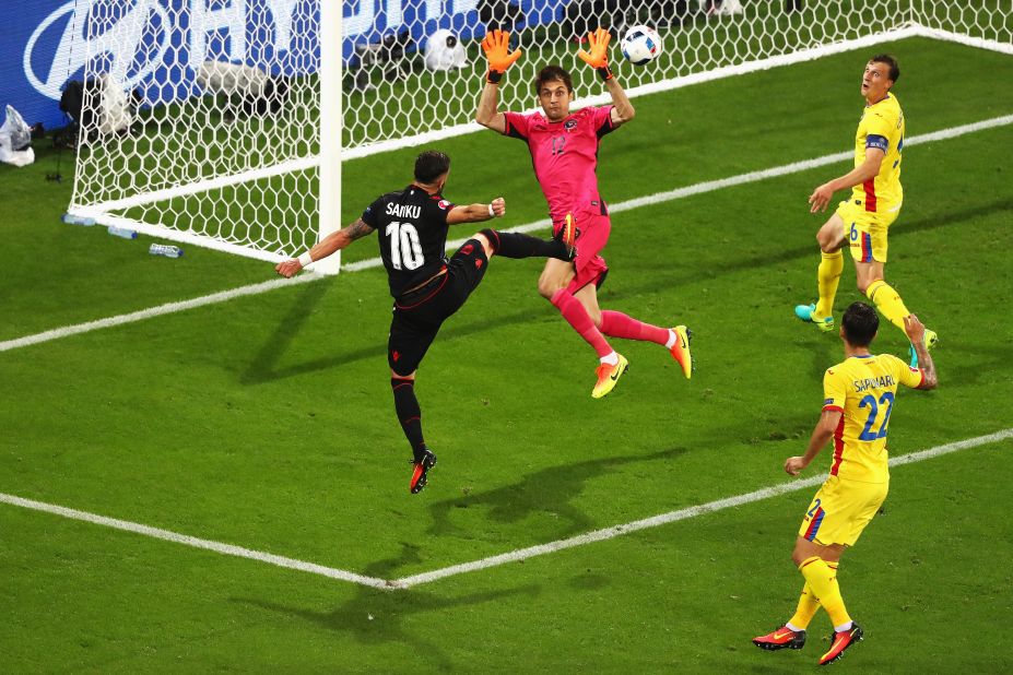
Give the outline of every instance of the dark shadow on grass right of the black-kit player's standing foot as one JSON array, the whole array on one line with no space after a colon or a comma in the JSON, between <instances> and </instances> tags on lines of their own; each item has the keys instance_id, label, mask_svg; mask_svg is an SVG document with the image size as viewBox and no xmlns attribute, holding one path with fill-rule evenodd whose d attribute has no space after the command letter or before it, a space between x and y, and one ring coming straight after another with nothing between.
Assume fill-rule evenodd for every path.
<instances>
[{"instance_id":1,"label":"dark shadow on grass right of the black-kit player's standing foot","mask_svg":"<svg viewBox=\"0 0 1013 675\"><path fill-rule=\"evenodd\" d=\"M685 452L688 452L686 448L671 448L644 455L599 457L575 464L550 466L513 485L444 499L429 506L433 517L429 533L447 535L458 532L460 529L451 522L452 516L463 509L481 509L488 520L503 523L520 522L538 513L552 514L558 517L562 523L561 530L553 535L556 537L587 532L596 523L570 504L584 490L585 483L624 464L671 460Z\"/></svg>"}]
</instances>

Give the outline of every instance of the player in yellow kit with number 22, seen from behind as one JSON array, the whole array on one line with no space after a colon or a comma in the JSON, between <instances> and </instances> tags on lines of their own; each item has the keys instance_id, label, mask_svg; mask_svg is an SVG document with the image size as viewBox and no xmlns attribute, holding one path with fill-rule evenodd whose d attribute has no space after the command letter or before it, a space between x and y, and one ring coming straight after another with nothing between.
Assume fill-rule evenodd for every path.
<instances>
[{"instance_id":1,"label":"player in yellow kit with number 22, seen from behind","mask_svg":"<svg viewBox=\"0 0 1013 675\"><path fill-rule=\"evenodd\" d=\"M875 309L869 305L852 304L840 324L847 358L827 369L823 377L823 414L805 454L790 457L785 462L785 471L798 475L834 439L831 475L809 505L791 554L805 585L788 623L774 632L753 638L756 647L766 650L802 649L805 629L823 607L834 624L834 633L820 665L837 661L846 649L862 639L861 627L851 620L840 596L837 565L845 548L855 545L886 499L890 487L886 429L897 387L934 389L937 384L935 365L924 344L926 328L915 315L905 317L904 330L921 368L908 367L890 354L869 352L880 325Z\"/></svg>"}]
</instances>

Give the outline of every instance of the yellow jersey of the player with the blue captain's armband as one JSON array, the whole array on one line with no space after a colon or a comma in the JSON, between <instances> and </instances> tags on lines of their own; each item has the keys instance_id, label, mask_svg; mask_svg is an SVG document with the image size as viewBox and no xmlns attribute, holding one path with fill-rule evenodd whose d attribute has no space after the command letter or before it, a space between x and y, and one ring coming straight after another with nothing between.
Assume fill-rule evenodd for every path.
<instances>
[{"instance_id":1,"label":"yellow jersey of the player with the blue captain's armband","mask_svg":"<svg viewBox=\"0 0 1013 675\"><path fill-rule=\"evenodd\" d=\"M855 203L870 213L896 211L904 201L900 188L900 153L904 150L904 111L893 94L867 105L855 134L855 166L865 162L865 150L877 147L886 153L875 178L851 188Z\"/></svg>"}]
</instances>

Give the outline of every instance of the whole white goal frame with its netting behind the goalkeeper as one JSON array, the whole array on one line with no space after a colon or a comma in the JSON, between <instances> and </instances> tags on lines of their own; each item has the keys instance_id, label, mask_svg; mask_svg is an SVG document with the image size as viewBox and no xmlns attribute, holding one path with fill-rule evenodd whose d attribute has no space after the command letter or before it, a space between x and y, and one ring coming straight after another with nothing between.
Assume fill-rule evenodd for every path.
<instances>
[{"instance_id":1,"label":"whole white goal frame with its netting behind the goalkeeper","mask_svg":"<svg viewBox=\"0 0 1013 675\"><path fill-rule=\"evenodd\" d=\"M340 3L339 3L340 1ZM648 24L663 54L611 59L631 95L928 36L1013 55L1013 0L70 0L83 45L68 211L261 260L341 223L341 161L469 133L486 29L511 32L515 83L588 28ZM80 52L83 49L83 52ZM70 69L73 72L73 68ZM81 69L78 69L81 72ZM528 87L503 105L530 109ZM581 105L602 103L581 97ZM381 192L385 186L376 186ZM314 268L320 268L317 263ZM338 271L338 256L327 269Z\"/></svg>"}]
</instances>

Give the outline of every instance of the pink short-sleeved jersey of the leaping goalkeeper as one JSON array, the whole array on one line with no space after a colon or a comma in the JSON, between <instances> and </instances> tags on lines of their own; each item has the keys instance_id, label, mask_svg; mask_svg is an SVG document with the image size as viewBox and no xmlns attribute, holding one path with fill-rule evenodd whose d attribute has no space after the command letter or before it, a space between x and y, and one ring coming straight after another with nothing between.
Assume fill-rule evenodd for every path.
<instances>
[{"instance_id":1,"label":"pink short-sleeved jersey of the leaping goalkeeper","mask_svg":"<svg viewBox=\"0 0 1013 675\"><path fill-rule=\"evenodd\" d=\"M549 214L558 223L567 213L608 215L598 192L598 143L615 127L612 106L582 108L558 122L541 112L504 112L505 135L528 143L534 175L549 202Z\"/></svg>"}]
</instances>

